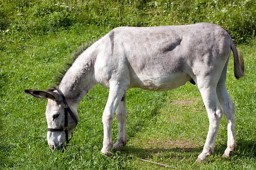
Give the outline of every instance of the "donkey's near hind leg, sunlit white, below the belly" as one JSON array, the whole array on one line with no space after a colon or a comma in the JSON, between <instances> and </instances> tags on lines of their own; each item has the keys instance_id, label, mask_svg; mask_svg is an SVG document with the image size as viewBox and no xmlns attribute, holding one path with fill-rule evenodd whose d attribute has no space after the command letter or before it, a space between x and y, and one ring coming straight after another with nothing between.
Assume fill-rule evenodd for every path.
<instances>
[{"instance_id":1,"label":"donkey's near hind leg, sunlit white, below the belly","mask_svg":"<svg viewBox=\"0 0 256 170\"><path fill-rule=\"evenodd\" d=\"M198 81L197 86L202 95L203 102L205 104L205 108L207 110L208 118L209 118L209 130L207 134L207 138L205 141L204 149L202 153L198 156L196 162L202 162L205 158L213 153L214 144L216 140L216 136L218 133L218 128L220 126L220 120L223 115L223 112L220 108L218 97L216 94L216 84L212 84L210 82L214 82L210 80Z\"/></svg>"}]
</instances>

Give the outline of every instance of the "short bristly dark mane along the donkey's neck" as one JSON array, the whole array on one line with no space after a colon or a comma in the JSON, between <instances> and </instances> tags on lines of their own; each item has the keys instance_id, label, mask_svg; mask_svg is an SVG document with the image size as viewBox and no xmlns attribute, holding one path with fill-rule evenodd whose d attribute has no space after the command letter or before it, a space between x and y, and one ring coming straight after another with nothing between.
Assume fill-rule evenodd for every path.
<instances>
[{"instance_id":1,"label":"short bristly dark mane along the donkey's neck","mask_svg":"<svg viewBox=\"0 0 256 170\"><path fill-rule=\"evenodd\" d=\"M95 41L94 41L95 42ZM55 76L55 82L56 85L54 85L53 87L58 87L59 83L61 82L61 80L63 79L64 75L66 74L67 70L69 70L69 68L72 66L72 64L74 63L74 61L79 57L79 55L81 55L88 47L90 47L90 45L92 45L94 42L89 42L89 43L85 43L82 44L81 47L79 47L77 50L75 50L74 52L72 52L72 59L71 61L66 62L63 67L58 70L56 76Z\"/></svg>"}]
</instances>

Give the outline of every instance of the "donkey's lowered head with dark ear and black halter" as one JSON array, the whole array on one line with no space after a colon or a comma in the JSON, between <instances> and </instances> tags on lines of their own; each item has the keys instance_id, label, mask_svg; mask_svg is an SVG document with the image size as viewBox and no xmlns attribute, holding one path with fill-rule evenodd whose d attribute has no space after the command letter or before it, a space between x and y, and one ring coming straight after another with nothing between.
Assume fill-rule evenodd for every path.
<instances>
[{"instance_id":1,"label":"donkey's lowered head with dark ear and black halter","mask_svg":"<svg viewBox=\"0 0 256 170\"><path fill-rule=\"evenodd\" d=\"M69 136L72 135L77 125L77 108L72 102L66 100L59 89L25 90L34 97L48 100L46 106L46 120L48 125L47 141L49 147L54 150L69 143Z\"/></svg>"}]
</instances>

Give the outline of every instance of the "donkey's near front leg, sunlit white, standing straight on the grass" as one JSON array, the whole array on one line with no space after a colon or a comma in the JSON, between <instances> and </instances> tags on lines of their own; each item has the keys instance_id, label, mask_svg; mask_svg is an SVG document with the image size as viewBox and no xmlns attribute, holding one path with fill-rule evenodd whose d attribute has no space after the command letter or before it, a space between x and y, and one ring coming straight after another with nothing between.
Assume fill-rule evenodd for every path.
<instances>
[{"instance_id":1,"label":"donkey's near front leg, sunlit white, standing straight on the grass","mask_svg":"<svg viewBox=\"0 0 256 170\"><path fill-rule=\"evenodd\" d=\"M110 91L108 95L108 101L105 106L103 115L102 115L102 123L104 128L104 139L103 139L103 147L101 153L104 155L111 155L109 152L113 147L113 141L111 136L111 125L114 118L115 110L120 103L121 98L123 97L125 91L128 88L128 83L121 82L111 82L110 83Z\"/></svg>"}]
</instances>

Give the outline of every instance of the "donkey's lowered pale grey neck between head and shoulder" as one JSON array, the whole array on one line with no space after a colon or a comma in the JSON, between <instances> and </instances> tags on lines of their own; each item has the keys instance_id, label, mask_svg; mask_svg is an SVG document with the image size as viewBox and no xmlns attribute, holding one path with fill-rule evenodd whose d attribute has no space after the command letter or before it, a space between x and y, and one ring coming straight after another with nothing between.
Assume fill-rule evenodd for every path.
<instances>
[{"instance_id":1,"label":"donkey's lowered pale grey neck between head and shoulder","mask_svg":"<svg viewBox=\"0 0 256 170\"><path fill-rule=\"evenodd\" d=\"M65 73L59 83L59 89L68 100L79 104L87 92L96 85L92 75L95 58L95 50L89 47L77 57Z\"/></svg>"}]
</instances>

